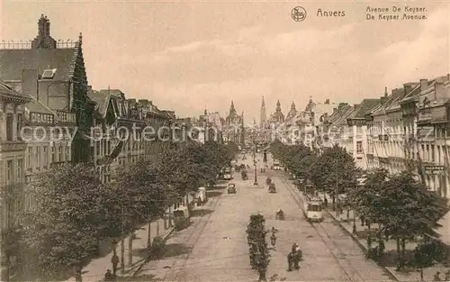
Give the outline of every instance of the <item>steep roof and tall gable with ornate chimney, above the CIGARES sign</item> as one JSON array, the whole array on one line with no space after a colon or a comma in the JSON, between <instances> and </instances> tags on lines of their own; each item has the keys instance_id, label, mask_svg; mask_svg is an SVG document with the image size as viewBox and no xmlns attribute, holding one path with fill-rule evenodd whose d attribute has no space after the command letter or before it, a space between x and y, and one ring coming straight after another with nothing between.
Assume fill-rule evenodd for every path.
<instances>
[{"instance_id":1,"label":"steep roof and tall gable with ornate chimney, above the CIGARES sign","mask_svg":"<svg viewBox=\"0 0 450 282\"><path fill-rule=\"evenodd\" d=\"M0 77L38 102L39 111L43 112L32 114L30 111L33 123L44 122L40 117L47 118L51 114L54 122L72 123L75 114L77 131L69 146L69 155L75 162L90 160L89 140L85 136L92 125L89 123L92 104L87 98L81 34L78 41L57 42L50 36L49 19L41 15L38 35L31 43L2 45ZM36 152L33 154L40 156Z\"/></svg>"}]
</instances>

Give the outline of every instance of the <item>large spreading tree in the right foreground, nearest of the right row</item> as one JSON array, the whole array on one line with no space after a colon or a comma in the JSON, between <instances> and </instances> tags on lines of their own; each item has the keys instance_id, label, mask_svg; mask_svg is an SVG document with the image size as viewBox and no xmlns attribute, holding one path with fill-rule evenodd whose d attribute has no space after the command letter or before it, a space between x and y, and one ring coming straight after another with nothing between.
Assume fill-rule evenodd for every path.
<instances>
[{"instance_id":1,"label":"large spreading tree in the right foreground, nearest of the right row","mask_svg":"<svg viewBox=\"0 0 450 282\"><path fill-rule=\"evenodd\" d=\"M388 176L386 170L375 169L367 173L365 185L350 190L349 196L367 225L380 225L380 243L381 231L386 240L397 241L398 268L404 267L406 241L416 236L437 236L433 229L448 211L446 199L415 180L410 170ZM415 252L421 266L426 259L420 257L423 254L426 252L421 249Z\"/></svg>"}]
</instances>

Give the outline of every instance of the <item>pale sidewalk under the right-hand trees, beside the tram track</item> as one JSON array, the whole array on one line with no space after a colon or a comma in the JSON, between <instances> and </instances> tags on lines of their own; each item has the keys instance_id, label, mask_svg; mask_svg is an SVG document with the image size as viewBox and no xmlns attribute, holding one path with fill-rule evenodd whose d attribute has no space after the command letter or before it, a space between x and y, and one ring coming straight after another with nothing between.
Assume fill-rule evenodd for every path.
<instances>
[{"instance_id":1,"label":"pale sidewalk under the right-hand trees, beside the tram track","mask_svg":"<svg viewBox=\"0 0 450 282\"><path fill-rule=\"evenodd\" d=\"M320 195L320 197L323 199L323 194ZM332 206L332 199L330 196L327 196L327 199L329 201L329 207ZM367 234L368 234L368 228L366 226L361 226L361 221L356 218L356 234L353 234L353 221L354 221L354 213L353 211L349 212L349 216L347 218L347 211L344 210L342 214L339 214L339 216L336 215L336 212L326 210L326 212L335 219L335 221L340 225L340 227L345 230L359 245L359 247L365 252L367 252ZM377 224L374 224L374 226L371 226L371 229L376 229L378 226ZM406 255L412 255L411 252L416 248L418 245L418 242L414 241L407 241L406 243ZM373 248L377 246L376 242L373 242L372 244ZM384 253L387 254L383 258L383 262L381 262L381 266L385 268L387 271L389 271L392 274L392 277L395 277L399 281L420 281L420 272L419 271L411 271L409 273L404 272L398 272L396 271L396 265L393 258L396 255L397 252L397 244L395 241L384 241L385 250ZM441 279L444 280L444 276L447 270L450 268L446 268L442 265L436 265L430 268L424 268L424 280L425 281L432 281L434 275L437 271L441 272Z\"/></svg>"}]
</instances>

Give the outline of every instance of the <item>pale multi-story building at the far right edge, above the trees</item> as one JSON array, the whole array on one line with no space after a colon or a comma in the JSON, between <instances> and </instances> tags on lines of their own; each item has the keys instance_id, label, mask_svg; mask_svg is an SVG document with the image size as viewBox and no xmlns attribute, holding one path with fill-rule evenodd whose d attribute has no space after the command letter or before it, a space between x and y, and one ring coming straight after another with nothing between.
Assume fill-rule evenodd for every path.
<instances>
[{"instance_id":1,"label":"pale multi-story building at the far right edge, above the trees","mask_svg":"<svg viewBox=\"0 0 450 282\"><path fill-rule=\"evenodd\" d=\"M426 185L441 196L450 195L448 174L447 106L450 76L420 79L402 99L403 126L406 132L405 155L417 164ZM405 85L406 86L406 85ZM428 174L425 167L443 168Z\"/></svg>"}]
</instances>

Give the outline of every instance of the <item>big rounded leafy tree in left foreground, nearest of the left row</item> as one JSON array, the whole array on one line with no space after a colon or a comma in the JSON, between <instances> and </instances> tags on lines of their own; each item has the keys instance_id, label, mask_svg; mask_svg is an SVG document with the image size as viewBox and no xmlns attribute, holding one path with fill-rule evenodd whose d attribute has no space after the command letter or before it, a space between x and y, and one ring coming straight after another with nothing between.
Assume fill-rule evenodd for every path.
<instances>
[{"instance_id":1,"label":"big rounded leafy tree in left foreground, nearest of the left row","mask_svg":"<svg viewBox=\"0 0 450 282\"><path fill-rule=\"evenodd\" d=\"M75 270L81 281L81 269L97 252L105 217L101 187L94 168L84 163L55 166L30 186L35 205L23 214L23 239L39 254L40 275L56 278Z\"/></svg>"}]
</instances>

